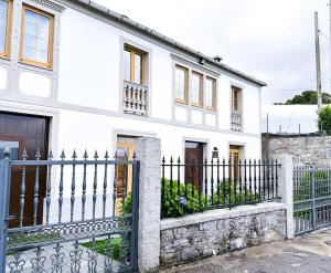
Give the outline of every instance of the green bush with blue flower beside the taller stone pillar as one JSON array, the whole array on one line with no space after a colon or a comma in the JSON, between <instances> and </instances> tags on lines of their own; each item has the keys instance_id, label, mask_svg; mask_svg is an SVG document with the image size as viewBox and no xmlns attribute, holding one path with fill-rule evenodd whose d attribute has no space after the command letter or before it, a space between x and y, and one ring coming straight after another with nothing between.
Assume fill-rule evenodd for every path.
<instances>
[{"instance_id":1,"label":"green bush with blue flower beside the taller stone pillar","mask_svg":"<svg viewBox=\"0 0 331 273\"><path fill-rule=\"evenodd\" d=\"M173 180L171 187L170 180L164 179L161 190L162 192L164 192L164 200L162 203L162 218L182 217L184 214L203 211L205 208L204 195L201 193L199 198L199 190L190 182L188 182L186 185L180 183L180 187L178 187L178 181ZM180 200L181 197L183 198L185 196L185 192L188 192L188 196L185 197L186 206L182 206L180 203Z\"/></svg>"}]
</instances>

